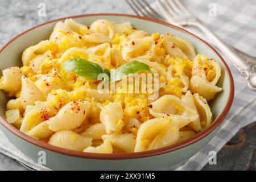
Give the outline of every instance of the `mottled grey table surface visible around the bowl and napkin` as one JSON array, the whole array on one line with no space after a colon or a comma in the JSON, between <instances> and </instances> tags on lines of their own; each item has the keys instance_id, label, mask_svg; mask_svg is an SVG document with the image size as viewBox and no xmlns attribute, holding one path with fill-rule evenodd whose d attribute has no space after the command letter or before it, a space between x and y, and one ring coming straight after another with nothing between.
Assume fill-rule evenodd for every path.
<instances>
[{"instance_id":1,"label":"mottled grey table surface visible around the bowl and napkin","mask_svg":"<svg viewBox=\"0 0 256 182\"><path fill-rule=\"evenodd\" d=\"M46 5L46 16L38 16L39 3ZM124 0L1 0L0 46L16 34L48 20L64 16L89 13L134 14ZM217 164L207 165L204 170L255 170L256 125L241 129L237 135L218 152ZM234 157L230 157L236 156ZM19 162L0 154L0 170L27 170Z\"/></svg>"}]
</instances>

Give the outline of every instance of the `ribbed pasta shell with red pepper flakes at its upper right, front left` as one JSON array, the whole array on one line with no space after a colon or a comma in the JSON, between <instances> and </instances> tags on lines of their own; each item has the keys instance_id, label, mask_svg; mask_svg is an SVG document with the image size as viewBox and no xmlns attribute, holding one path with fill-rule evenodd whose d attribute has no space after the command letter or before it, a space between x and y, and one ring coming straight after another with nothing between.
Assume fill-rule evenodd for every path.
<instances>
[{"instance_id":1,"label":"ribbed pasta shell with red pepper flakes at its upper right, front left","mask_svg":"<svg viewBox=\"0 0 256 182\"><path fill-rule=\"evenodd\" d=\"M88 101L72 101L62 107L59 112L47 121L52 131L72 130L79 127L90 110Z\"/></svg>"}]
</instances>

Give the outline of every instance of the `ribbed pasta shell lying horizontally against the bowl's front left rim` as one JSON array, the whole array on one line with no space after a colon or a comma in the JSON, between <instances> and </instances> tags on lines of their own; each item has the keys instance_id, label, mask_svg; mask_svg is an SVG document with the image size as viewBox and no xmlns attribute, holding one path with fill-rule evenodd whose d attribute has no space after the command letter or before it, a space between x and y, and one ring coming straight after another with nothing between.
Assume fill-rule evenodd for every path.
<instances>
[{"instance_id":1,"label":"ribbed pasta shell lying horizontally against the bowl's front left rim","mask_svg":"<svg viewBox=\"0 0 256 182\"><path fill-rule=\"evenodd\" d=\"M92 145L92 138L82 137L73 131L63 130L53 134L48 144L69 150L83 151Z\"/></svg>"}]
</instances>

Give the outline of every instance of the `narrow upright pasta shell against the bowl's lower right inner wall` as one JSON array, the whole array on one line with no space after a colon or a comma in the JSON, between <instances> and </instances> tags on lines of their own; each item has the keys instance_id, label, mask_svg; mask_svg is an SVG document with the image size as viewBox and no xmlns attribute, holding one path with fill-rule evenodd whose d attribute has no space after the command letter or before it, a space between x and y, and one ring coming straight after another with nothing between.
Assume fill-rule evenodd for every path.
<instances>
[{"instance_id":1,"label":"narrow upright pasta shell against the bowl's lower right inner wall","mask_svg":"<svg viewBox=\"0 0 256 182\"><path fill-rule=\"evenodd\" d=\"M200 122L202 129L205 129L212 123L212 112L210 111L210 107L207 103L207 100L198 93L193 94L193 98L195 101L196 109L200 115Z\"/></svg>"}]
</instances>

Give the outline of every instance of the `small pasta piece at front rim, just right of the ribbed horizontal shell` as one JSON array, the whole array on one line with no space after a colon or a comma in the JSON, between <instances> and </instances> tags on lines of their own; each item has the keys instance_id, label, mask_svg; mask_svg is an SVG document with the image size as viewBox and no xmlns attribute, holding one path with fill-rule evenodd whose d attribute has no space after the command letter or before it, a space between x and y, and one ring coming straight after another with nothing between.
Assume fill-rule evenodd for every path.
<instances>
[{"instance_id":1,"label":"small pasta piece at front rim, just right of the ribbed horizontal shell","mask_svg":"<svg viewBox=\"0 0 256 182\"><path fill-rule=\"evenodd\" d=\"M112 144L110 143L109 140L104 140L104 143L102 143L100 146L87 147L87 148L85 148L84 152L112 154L113 148L112 148Z\"/></svg>"}]
</instances>

